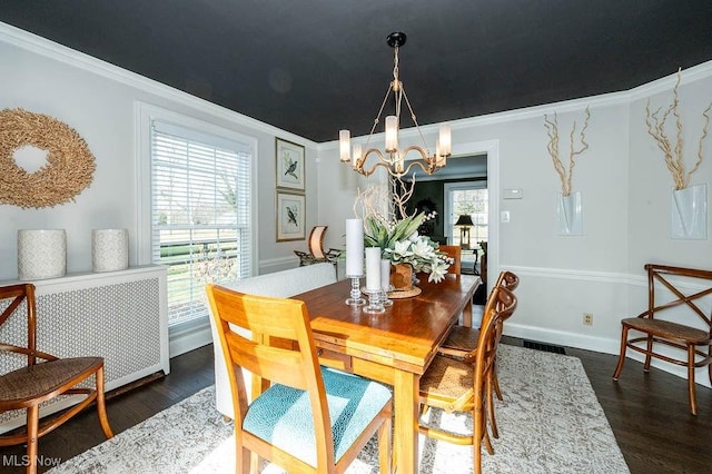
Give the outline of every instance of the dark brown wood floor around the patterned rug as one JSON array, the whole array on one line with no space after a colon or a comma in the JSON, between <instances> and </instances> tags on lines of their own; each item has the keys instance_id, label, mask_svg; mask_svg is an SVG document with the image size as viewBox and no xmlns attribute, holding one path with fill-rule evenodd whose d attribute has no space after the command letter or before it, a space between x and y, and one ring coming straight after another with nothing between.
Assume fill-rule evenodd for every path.
<instances>
[{"instance_id":1,"label":"dark brown wood floor around the patterned rug","mask_svg":"<svg viewBox=\"0 0 712 474\"><path fill-rule=\"evenodd\" d=\"M712 472L712 389L699 387L695 417L689 413L684 379L655 369L644 374L640 363L627 361L621 381L614 383L615 356L573 348L566 348L566 354L583 362L632 473ZM110 397L107 409L113 432L134 426L212 382L212 346L172 358L170 375ZM96 412L89 411L42 437L39 452L48 461L67 460L102 441ZM0 448L0 472L23 472L10 466L23 454L21 446Z\"/></svg>"}]
</instances>

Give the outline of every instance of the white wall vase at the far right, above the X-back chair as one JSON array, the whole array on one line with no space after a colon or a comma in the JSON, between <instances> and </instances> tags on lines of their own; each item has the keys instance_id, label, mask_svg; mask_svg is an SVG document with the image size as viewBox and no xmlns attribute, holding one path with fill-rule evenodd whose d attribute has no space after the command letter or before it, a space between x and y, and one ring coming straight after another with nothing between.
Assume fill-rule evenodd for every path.
<instances>
[{"instance_id":1,"label":"white wall vase at the far right, above the X-back chair","mask_svg":"<svg viewBox=\"0 0 712 474\"><path fill-rule=\"evenodd\" d=\"M708 185L673 189L670 225L672 238L708 238Z\"/></svg>"}]
</instances>

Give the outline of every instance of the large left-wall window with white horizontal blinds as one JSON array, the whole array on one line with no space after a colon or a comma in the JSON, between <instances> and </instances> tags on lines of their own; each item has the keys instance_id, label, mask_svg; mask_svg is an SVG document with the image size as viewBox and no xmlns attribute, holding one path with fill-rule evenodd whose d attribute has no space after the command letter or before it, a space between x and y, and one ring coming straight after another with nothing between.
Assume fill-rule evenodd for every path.
<instances>
[{"instance_id":1,"label":"large left-wall window with white horizontal blinds","mask_svg":"<svg viewBox=\"0 0 712 474\"><path fill-rule=\"evenodd\" d=\"M208 317L205 285L249 276L246 144L151 124L151 255L168 266L168 324Z\"/></svg>"}]
</instances>

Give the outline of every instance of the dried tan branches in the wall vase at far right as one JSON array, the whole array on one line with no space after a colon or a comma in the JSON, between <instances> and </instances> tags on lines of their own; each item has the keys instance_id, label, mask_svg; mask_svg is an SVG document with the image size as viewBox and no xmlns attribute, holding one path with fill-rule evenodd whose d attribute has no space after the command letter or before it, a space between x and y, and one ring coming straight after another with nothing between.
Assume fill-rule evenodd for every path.
<instances>
[{"instance_id":1,"label":"dried tan branches in the wall vase at far right","mask_svg":"<svg viewBox=\"0 0 712 474\"><path fill-rule=\"evenodd\" d=\"M700 165L702 164L702 147L704 139L708 136L708 129L710 126L710 111L712 110L712 102L708 106L708 108L702 112L704 117L704 124L702 125L702 136L700 137L700 144L698 147L698 158L692 166L692 169L689 172L685 172L685 164L683 157L683 142L682 142L682 118L679 112L680 105L680 96L678 89L680 87L680 80L682 78L682 69L678 69L678 81L675 82L675 87L672 91L672 103L668 106L668 108L663 111L662 116L660 115L662 108L655 109L655 111L651 111L650 109L650 99L647 100L647 105L645 106L645 125L647 126L647 132L655 140L657 148L663 152L665 158L665 166L670 170L670 175L675 184L675 189L684 189L690 185L690 179L692 174L698 170ZM665 131L665 124L670 116L675 117L675 130L676 130L676 139L675 145L673 147L671 138L668 136Z\"/></svg>"}]
</instances>

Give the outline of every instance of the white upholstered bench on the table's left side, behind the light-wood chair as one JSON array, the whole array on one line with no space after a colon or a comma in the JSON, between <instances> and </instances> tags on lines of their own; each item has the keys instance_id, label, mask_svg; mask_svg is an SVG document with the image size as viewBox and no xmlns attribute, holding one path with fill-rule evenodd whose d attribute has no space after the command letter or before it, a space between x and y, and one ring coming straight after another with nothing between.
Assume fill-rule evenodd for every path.
<instances>
[{"instance_id":1,"label":"white upholstered bench on the table's left side, behind the light-wood chair","mask_svg":"<svg viewBox=\"0 0 712 474\"><path fill-rule=\"evenodd\" d=\"M221 285L240 293L288 298L314 288L330 285L334 282L336 282L334 265L315 264ZM230 395L225 356L217 337L212 317L210 317L210 330L212 332L212 347L215 350L215 405L222 415L234 418L235 412L233 409L233 397ZM246 373L246 375L245 381L250 384L250 374ZM248 393L250 393L250 389L248 389Z\"/></svg>"}]
</instances>

